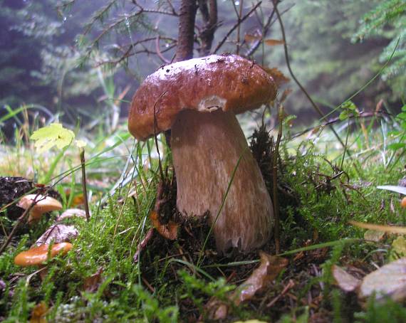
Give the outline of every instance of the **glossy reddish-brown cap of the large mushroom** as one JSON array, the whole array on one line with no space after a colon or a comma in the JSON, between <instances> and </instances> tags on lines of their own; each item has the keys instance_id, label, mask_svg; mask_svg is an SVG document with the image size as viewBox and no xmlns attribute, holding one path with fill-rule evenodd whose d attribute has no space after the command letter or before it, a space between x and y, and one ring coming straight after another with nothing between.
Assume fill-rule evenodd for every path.
<instances>
[{"instance_id":1,"label":"glossy reddish-brown cap of the large mushroom","mask_svg":"<svg viewBox=\"0 0 406 323\"><path fill-rule=\"evenodd\" d=\"M274 100L276 85L259 65L238 55L209 55L166 65L132 99L128 129L137 139L170 129L182 110L234 114Z\"/></svg>"}]
</instances>

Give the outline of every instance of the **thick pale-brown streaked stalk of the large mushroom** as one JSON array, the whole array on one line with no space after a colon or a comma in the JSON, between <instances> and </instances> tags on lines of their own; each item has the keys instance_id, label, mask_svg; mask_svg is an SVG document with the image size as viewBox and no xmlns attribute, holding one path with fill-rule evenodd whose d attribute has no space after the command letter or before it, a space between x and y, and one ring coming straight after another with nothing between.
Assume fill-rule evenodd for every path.
<instances>
[{"instance_id":1,"label":"thick pale-brown streaked stalk of the large mushroom","mask_svg":"<svg viewBox=\"0 0 406 323\"><path fill-rule=\"evenodd\" d=\"M209 211L220 252L232 247L248 252L264 245L274 223L272 201L234 114L184 110L172 126L171 144L182 215Z\"/></svg>"}]
</instances>

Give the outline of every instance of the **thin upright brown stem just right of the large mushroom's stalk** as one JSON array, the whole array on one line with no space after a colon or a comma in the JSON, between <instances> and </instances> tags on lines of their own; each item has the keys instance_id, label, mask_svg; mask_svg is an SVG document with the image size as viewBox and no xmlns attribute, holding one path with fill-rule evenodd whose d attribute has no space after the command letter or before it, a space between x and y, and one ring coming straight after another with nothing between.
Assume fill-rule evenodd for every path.
<instances>
[{"instance_id":1,"label":"thin upright brown stem just right of the large mushroom's stalk","mask_svg":"<svg viewBox=\"0 0 406 323\"><path fill-rule=\"evenodd\" d=\"M276 144L274 148L274 161L272 162L272 181L273 181L273 195L274 195L274 219L275 219L275 228L274 228L274 235L275 235L275 248L276 254L280 253L281 251L281 243L279 239L279 201L278 201L278 157L279 157L279 144L281 143L282 138L282 122L283 122L283 105L279 105L278 111L279 117L279 131L278 137L276 138Z\"/></svg>"}]
</instances>

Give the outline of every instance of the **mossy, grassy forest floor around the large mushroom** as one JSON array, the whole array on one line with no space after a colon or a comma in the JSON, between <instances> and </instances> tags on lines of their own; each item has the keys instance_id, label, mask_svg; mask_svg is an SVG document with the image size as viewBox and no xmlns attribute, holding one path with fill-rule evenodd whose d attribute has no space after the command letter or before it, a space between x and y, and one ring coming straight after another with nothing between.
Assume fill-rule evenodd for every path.
<instances>
[{"instance_id":1,"label":"mossy, grassy forest floor around the large mushroom","mask_svg":"<svg viewBox=\"0 0 406 323\"><path fill-rule=\"evenodd\" d=\"M370 129L380 127L373 122ZM90 219L61 222L76 228L73 248L40 268L14 264L55 224L61 212L53 212L34 226L22 225L1 253L0 321L406 322L406 241L399 234L405 228L394 229L406 226L406 208L400 194L377 187L405 186L403 151L388 148L393 129L387 122L385 131L369 137L352 130L344 155L327 129L281 142L279 253L272 239L261 250L227 257L207 238L204 218L174 224L175 240L152 226L159 226L152 210L160 183L153 140L131 147L122 144L127 137L108 138L110 147L122 145L120 153L99 140L86 148ZM2 147L0 174L53 179L63 209L81 208L77 149L38 156L31 146L22 139ZM132 152L132 160L128 153L118 157L123 151ZM167 155L164 144L161 154ZM30 189L47 188L25 192ZM3 245L18 216L0 207ZM360 223L382 226L368 230ZM378 270L394 262L401 269Z\"/></svg>"}]
</instances>

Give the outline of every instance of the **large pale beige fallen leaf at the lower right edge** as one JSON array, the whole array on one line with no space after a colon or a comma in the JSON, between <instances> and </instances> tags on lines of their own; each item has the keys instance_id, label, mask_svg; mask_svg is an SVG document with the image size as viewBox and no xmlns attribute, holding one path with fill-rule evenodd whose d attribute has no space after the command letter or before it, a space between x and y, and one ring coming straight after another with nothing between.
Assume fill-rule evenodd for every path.
<instances>
[{"instance_id":1,"label":"large pale beige fallen leaf at the lower right edge","mask_svg":"<svg viewBox=\"0 0 406 323\"><path fill-rule=\"evenodd\" d=\"M400 258L366 275L358 297L364 299L375 293L377 300L390 297L401 301L406 297L406 258Z\"/></svg>"}]
</instances>

